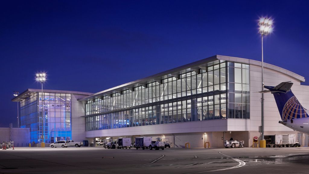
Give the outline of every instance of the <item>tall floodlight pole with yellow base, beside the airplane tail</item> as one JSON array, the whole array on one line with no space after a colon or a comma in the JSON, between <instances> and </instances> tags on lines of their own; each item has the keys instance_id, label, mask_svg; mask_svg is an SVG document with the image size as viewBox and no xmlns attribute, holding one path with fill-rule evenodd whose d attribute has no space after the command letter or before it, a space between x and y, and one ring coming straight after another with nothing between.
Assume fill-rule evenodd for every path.
<instances>
[{"instance_id":1,"label":"tall floodlight pole with yellow base, beside the airplane tail","mask_svg":"<svg viewBox=\"0 0 309 174\"><path fill-rule=\"evenodd\" d=\"M260 18L259 33L262 36L262 91L264 90L264 61L263 61L263 35L269 35L273 31L273 20L270 18ZM261 99L261 140L264 140L264 94Z\"/></svg>"}]
</instances>

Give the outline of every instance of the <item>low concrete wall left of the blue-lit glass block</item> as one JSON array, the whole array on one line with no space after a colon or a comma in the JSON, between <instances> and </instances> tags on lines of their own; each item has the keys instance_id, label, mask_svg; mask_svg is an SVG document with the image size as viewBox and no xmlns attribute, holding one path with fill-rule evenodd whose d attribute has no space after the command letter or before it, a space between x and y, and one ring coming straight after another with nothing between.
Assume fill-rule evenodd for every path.
<instances>
[{"instance_id":1,"label":"low concrete wall left of the blue-lit glass block","mask_svg":"<svg viewBox=\"0 0 309 174\"><path fill-rule=\"evenodd\" d=\"M30 128L12 128L12 140L15 147L28 147ZM10 141L10 128L0 128L0 143Z\"/></svg>"}]
</instances>

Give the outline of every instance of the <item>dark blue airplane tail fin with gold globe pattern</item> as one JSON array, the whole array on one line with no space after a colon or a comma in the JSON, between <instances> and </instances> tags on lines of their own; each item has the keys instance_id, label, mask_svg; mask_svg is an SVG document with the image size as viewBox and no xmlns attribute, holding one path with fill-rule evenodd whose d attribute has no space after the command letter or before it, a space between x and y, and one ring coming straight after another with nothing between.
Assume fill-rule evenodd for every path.
<instances>
[{"instance_id":1,"label":"dark blue airplane tail fin with gold globe pattern","mask_svg":"<svg viewBox=\"0 0 309 174\"><path fill-rule=\"evenodd\" d=\"M302 107L295 95L292 93L292 85L293 83L290 81L282 82L277 86L264 85L264 88L269 90L267 92L271 92L273 94L282 121L309 117L307 110Z\"/></svg>"}]
</instances>

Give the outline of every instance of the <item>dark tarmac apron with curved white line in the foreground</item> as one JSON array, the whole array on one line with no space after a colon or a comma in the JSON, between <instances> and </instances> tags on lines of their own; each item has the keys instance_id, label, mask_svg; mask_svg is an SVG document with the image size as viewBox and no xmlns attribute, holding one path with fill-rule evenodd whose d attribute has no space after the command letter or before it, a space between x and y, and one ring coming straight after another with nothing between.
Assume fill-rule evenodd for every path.
<instances>
[{"instance_id":1,"label":"dark tarmac apron with curved white line in the foreground","mask_svg":"<svg viewBox=\"0 0 309 174\"><path fill-rule=\"evenodd\" d=\"M309 173L309 147L0 150L0 173Z\"/></svg>"}]
</instances>

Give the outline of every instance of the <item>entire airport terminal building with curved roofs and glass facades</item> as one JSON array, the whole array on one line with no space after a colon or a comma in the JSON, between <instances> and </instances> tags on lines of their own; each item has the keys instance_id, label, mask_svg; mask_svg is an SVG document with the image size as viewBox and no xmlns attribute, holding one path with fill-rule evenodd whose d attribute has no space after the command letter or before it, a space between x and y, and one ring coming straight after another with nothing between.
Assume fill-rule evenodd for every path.
<instances>
[{"instance_id":1,"label":"entire airport terminal building with curved roofs and glass facades","mask_svg":"<svg viewBox=\"0 0 309 174\"><path fill-rule=\"evenodd\" d=\"M267 63L264 71L265 85L292 81L291 90L309 108L303 76ZM203 147L206 141L223 147L233 137L248 147L260 136L260 90L261 62L215 55L95 94L43 90L42 96L28 89L12 101L20 105L20 127L31 128L36 142L150 136L169 138L171 147ZM273 95L265 94L265 135L303 138L279 120Z\"/></svg>"}]
</instances>

